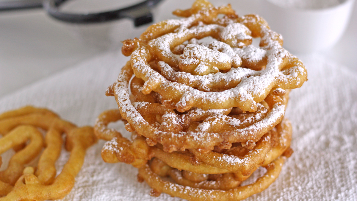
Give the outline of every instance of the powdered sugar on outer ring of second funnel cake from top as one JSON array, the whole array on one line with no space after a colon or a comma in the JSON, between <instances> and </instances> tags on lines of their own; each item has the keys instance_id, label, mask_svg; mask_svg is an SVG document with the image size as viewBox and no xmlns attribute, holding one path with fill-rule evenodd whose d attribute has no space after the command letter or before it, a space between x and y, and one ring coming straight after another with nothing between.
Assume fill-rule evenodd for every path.
<instances>
[{"instance_id":1,"label":"powdered sugar on outer ring of second funnel cake from top","mask_svg":"<svg viewBox=\"0 0 357 201\"><path fill-rule=\"evenodd\" d=\"M125 70L123 71L124 73L126 72ZM128 76L128 75L127 75ZM127 80L127 81L124 81ZM140 113L135 109L135 107L131 104L130 99L129 99L129 89L128 89L128 83L129 79L125 78L123 73L120 74L118 77L117 84L115 85L115 94L117 98L117 103L119 106L119 109L126 114L126 120L135 127L137 131L140 131L141 129L144 129L148 135L151 136L152 139L158 139L160 142L160 139L162 139L159 136L167 136L165 138L166 140L169 139L171 141L171 144L180 144L182 142L192 142L196 144L196 147L200 146L205 146L207 143L214 143L215 139L220 139L220 134L219 133L206 133L206 132L177 132L177 133L171 133L171 132L163 132L159 131L157 128L152 127L149 123L145 121L144 118L140 115ZM186 85L181 85L181 86L186 86ZM187 87L187 86L186 86ZM121 100L121 101L118 101ZM144 106L142 103L137 103L136 107L139 106ZM200 113L200 109L196 110L196 112ZM218 113L218 116L221 115L219 113L224 112L225 110L211 110L208 112L213 112L213 113ZM124 113L123 112L123 113ZM229 134L231 137L237 137L237 138L250 138L249 135L251 135L251 138L254 139L255 134L259 133L259 131L263 128L269 128L269 127L274 127L277 122L280 122L281 119L283 118L283 115L285 113L285 105L283 103L278 103L273 106L271 109L271 112L268 113L268 115L264 118L262 118L260 121L253 123L252 125L245 127L245 128L239 128L235 130L235 134ZM189 114L188 114L189 115ZM249 121L249 120L247 120ZM182 122L182 120L178 120L177 123ZM234 123L232 123L234 125ZM147 130L145 128L148 128ZM204 137L203 137L204 136ZM241 137L239 137L241 136ZM179 145L178 145L179 146Z\"/></svg>"}]
</instances>

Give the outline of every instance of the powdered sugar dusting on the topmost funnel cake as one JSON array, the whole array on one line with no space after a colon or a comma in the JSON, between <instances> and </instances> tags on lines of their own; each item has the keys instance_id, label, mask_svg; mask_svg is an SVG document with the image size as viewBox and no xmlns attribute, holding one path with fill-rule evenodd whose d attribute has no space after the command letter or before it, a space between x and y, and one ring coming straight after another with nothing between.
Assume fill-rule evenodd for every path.
<instances>
[{"instance_id":1,"label":"powdered sugar dusting on the topmost funnel cake","mask_svg":"<svg viewBox=\"0 0 357 201\"><path fill-rule=\"evenodd\" d=\"M306 78L306 70L301 65L292 66L285 72L281 72L281 68L285 65L284 59L291 57L291 54L281 47L281 35L271 31L259 16L243 16L241 23L231 22L226 26L204 24L197 21L199 18L200 15L195 14L182 20L166 21L169 25L177 26L173 33L165 34L149 41L147 46L149 50L139 48L132 54L132 67L135 75L144 80L150 80L150 83L156 83L155 85L147 84L145 86L145 91L147 92L145 93L149 93L150 90L155 90L156 92L159 92L159 90L172 90L174 94L180 96L180 100L176 104L176 108L179 111L187 110L198 104L198 102L207 105L207 108L204 109L222 105L224 108L240 107L244 108L245 111L254 111L256 104L262 101L273 88L298 87L305 81L300 80L300 78ZM194 22L197 23L196 26L192 26ZM198 35L199 38L210 36L212 33L218 33L218 40L230 40L228 41L229 44L234 46L235 42L232 42L232 40L237 39L238 43L239 40L251 39L251 31L244 25L249 23L260 23L259 34L263 44L261 49L252 45L232 49L227 45L223 45L220 41L212 41L204 44L188 44L185 46L181 56L171 52L172 48L181 45L185 41L198 37ZM152 57L152 54L157 54L156 56L162 62L173 68L177 68L178 64L181 66L194 65L194 70L189 70L191 73L195 72L195 74L206 76L207 73L214 72L215 75L200 78L183 72L174 72L164 64L160 64L161 67L169 70L169 72L164 72L164 69L162 69L161 73L165 76L163 77L160 73L152 70L146 62L149 59L148 57ZM241 64L240 57L247 62L259 62L266 59L266 68L250 72L246 70L231 70L228 73L219 73L219 69L215 67L217 63L230 61L229 63L232 62L232 67L239 68L238 66ZM293 60L290 59L290 61ZM225 74L227 74L227 78ZM231 76L233 74L238 80L234 80L235 78ZM174 76L176 75L178 77L175 78ZM305 78L303 78L304 76ZM225 85L233 85L233 88L220 92L212 91L211 89L214 89L213 86L218 82L217 80L224 81ZM232 83L232 80L235 83ZM190 86L187 86L187 83L190 83L188 84ZM192 88L192 86L197 89ZM172 99L165 93L162 94L162 97L164 99ZM232 105L231 103L235 101L237 104ZM200 107L204 107L203 104L200 104Z\"/></svg>"}]
</instances>

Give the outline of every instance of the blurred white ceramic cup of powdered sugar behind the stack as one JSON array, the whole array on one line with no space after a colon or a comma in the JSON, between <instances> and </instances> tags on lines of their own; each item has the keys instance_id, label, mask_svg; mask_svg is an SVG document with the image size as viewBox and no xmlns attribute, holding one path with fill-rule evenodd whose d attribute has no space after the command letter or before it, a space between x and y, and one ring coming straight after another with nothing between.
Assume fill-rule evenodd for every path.
<instances>
[{"instance_id":1,"label":"blurred white ceramic cup of powdered sugar behind the stack","mask_svg":"<svg viewBox=\"0 0 357 201\"><path fill-rule=\"evenodd\" d=\"M286 49L311 53L337 43L346 30L354 1L341 0L341 4L331 8L302 9L283 8L262 0L260 15L283 36Z\"/></svg>"}]
</instances>

